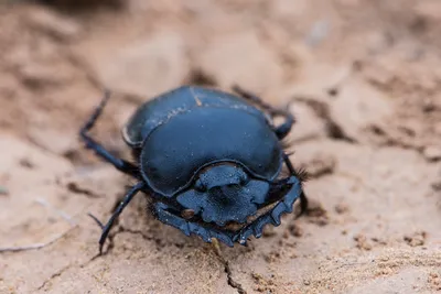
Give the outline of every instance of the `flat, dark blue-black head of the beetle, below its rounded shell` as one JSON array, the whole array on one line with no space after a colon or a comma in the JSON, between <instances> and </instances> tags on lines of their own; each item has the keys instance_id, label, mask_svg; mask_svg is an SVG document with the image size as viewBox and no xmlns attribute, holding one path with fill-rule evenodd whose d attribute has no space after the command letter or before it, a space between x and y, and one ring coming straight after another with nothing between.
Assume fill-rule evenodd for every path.
<instances>
[{"instance_id":1,"label":"flat, dark blue-black head of the beetle, below its rounded shell","mask_svg":"<svg viewBox=\"0 0 441 294\"><path fill-rule=\"evenodd\" d=\"M244 224L265 203L269 184L250 177L244 168L219 164L205 168L178 202L198 215L204 222L225 226Z\"/></svg>"}]
</instances>

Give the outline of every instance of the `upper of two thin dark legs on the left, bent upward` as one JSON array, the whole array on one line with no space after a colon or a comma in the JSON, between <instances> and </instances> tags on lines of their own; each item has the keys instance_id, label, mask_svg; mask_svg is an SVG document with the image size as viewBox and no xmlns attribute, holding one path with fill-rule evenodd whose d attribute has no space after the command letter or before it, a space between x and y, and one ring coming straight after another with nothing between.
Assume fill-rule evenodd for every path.
<instances>
[{"instance_id":1,"label":"upper of two thin dark legs on the left, bent upward","mask_svg":"<svg viewBox=\"0 0 441 294\"><path fill-rule=\"evenodd\" d=\"M106 91L103 97L101 102L98 105L98 107L92 113L90 118L86 121L86 123L80 129L79 135L83 139L83 141L86 143L86 148L94 150L96 154L98 154L105 161L111 163L117 170L119 170L126 174L129 174L131 176L139 177L138 168L135 165L132 165L131 163L129 163L122 159L118 159L118 157L111 155L110 152L108 152L101 144L96 142L87 133L95 126L95 122L101 115L103 109L106 106L109 98L110 98L110 92Z\"/></svg>"}]
</instances>

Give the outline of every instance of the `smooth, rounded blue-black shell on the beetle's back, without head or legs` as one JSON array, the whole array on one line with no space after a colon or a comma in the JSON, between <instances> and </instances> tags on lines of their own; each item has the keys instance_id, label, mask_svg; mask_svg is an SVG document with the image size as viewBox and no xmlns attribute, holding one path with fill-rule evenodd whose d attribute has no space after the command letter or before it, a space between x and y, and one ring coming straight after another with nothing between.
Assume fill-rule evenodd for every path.
<instances>
[{"instance_id":1,"label":"smooth, rounded blue-black shell on the beetle's back, without head or legs","mask_svg":"<svg viewBox=\"0 0 441 294\"><path fill-rule=\"evenodd\" d=\"M217 162L237 163L268 181L282 166L282 149L263 112L215 89L184 86L147 101L122 134L140 149L146 182L168 197Z\"/></svg>"}]
</instances>

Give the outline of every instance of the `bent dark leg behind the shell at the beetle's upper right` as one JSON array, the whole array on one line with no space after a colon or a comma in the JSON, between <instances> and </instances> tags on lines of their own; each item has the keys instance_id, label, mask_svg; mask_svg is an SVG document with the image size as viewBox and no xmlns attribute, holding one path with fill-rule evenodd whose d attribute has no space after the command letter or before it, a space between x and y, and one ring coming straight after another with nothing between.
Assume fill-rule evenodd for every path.
<instances>
[{"instance_id":1,"label":"bent dark leg behind the shell at the beetle's upper right","mask_svg":"<svg viewBox=\"0 0 441 294\"><path fill-rule=\"evenodd\" d=\"M244 90L243 88L240 88L237 85L233 86L233 90L236 91L237 94L239 94L245 99L251 100L256 105L260 106L262 109L268 111L272 118L279 117L279 116L283 117L284 122L282 124L276 127L275 132L280 140L283 139L284 137L287 137L287 134L290 132L290 130L292 128L292 124L294 124L294 122L295 122L294 117L288 109L286 109L286 110L277 109L277 108L270 106L269 104L265 102L262 99L260 99L256 95L254 95L247 90Z\"/></svg>"}]
</instances>

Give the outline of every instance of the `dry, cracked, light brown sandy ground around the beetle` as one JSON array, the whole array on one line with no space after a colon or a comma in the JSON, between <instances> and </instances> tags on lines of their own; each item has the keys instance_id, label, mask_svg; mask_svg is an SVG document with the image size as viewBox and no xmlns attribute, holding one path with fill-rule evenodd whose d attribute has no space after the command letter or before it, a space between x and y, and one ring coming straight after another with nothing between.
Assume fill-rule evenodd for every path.
<instances>
[{"instance_id":1,"label":"dry, cracked, light brown sandy ground around the beetle","mask_svg":"<svg viewBox=\"0 0 441 294\"><path fill-rule=\"evenodd\" d=\"M54 240L0 252L0 293L441 292L439 0L126 2L0 4L0 247ZM78 128L109 87L94 133L128 156L131 111L184 83L292 102L309 215L218 255L138 197L96 257L87 213L130 179Z\"/></svg>"}]
</instances>

